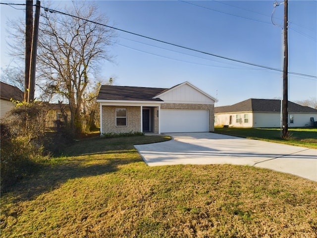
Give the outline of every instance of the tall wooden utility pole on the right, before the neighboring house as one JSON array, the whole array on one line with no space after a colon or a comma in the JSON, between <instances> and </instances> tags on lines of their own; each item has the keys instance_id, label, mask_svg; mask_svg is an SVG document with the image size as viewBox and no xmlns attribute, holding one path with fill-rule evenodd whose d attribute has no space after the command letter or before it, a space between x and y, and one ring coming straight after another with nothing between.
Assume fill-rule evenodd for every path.
<instances>
[{"instance_id":1,"label":"tall wooden utility pole on the right, before the neighboring house","mask_svg":"<svg viewBox=\"0 0 317 238\"><path fill-rule=\"evenodd\" d=\"M284 28L283 28L283 101L282 101L282 123L283 135L288 137L288 42L287 42L287 21L288 21L288 0L284 0Z\"/></svg>"}]
</instances>

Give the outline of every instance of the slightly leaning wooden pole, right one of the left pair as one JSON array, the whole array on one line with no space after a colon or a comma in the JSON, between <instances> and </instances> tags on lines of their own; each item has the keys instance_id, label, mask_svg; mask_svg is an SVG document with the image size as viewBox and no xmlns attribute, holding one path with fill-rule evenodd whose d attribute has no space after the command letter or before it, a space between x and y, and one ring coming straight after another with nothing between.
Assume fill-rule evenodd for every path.
<instances>
[{"instance_id":1,"label":"slightly leaning wooden pole, right one of the left pair","mask_svg":"<svg viewBox=\"0 0 317 238\"><path fill-rule=\"evenodd\" d=\"M40 9L41 9L41 1L37 0L36 1L36 8L35 8L33 37L32 37L32 54L31 54L31 65L30 65L28 103L34 102L36 55L37 55L37 47L38 47Z\"/></svg>"}]
</instances>

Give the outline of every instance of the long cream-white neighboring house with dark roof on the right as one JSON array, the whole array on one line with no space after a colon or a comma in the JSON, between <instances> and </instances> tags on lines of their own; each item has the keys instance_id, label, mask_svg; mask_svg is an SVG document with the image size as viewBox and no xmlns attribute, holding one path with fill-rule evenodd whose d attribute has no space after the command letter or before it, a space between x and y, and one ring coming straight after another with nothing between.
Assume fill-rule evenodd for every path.
<instances>
[{"instance_id":1,"label":"long cream-white neighboring house with dark roof on the right","mask_svg":"<svg viewBox=\"0 0 317 238\"><path fill-rule=\"evenodd\" d=\"M230 106L214 109L215 126L280 127L281 101L273 99L248 99ZM314 119L312 119L314 118ZM288 126L313 126L317 110L288 102Z\"/></svg>"}]
</instances>

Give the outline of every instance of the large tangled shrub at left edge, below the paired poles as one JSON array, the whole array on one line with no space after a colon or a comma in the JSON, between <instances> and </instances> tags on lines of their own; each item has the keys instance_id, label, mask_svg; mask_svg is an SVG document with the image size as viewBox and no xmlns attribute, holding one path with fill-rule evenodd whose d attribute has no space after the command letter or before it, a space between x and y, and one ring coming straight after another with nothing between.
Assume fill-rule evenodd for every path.
<instances>
[{"instance_id":1,"label":"large tangled shrub at left edge, below the paired poles","mask_svg":"<svg viewBox=\"0 0 317 238\"><path fill-rule=\"evenodd\" d=\"M43 103L18 103L1 119L1 190L46 158L42 155L47 111Z\"/></svg>"}]
</instances>

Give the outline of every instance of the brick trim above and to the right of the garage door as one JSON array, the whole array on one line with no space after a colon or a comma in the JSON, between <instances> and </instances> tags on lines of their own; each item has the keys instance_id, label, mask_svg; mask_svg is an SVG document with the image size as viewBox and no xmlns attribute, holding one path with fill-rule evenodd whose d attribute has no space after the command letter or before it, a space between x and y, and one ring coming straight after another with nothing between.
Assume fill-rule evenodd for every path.
<instances>
[{"instance_id":1,"label":"brick trim above and to the right of the garage door","mask_svg":"<svg viewBox=\"0 0 317 238\"><path fill-rule=\"evenodd\" d=\"M214 131L214 105L212 104L186 104L186 103L163 103L161 109L181 110L209 110L209 131Z\"/></svg>"}]
</instances>

